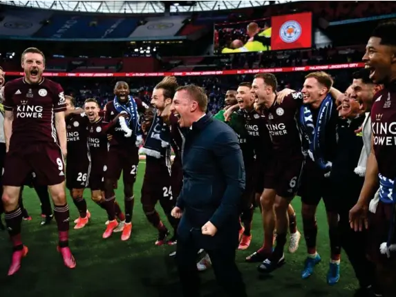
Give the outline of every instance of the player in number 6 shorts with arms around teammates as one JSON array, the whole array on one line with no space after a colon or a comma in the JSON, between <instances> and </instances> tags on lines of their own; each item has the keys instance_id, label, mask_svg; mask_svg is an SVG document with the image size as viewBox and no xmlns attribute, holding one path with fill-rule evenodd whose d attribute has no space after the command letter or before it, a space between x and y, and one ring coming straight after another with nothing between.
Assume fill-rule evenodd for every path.
<instances>
[{"instance_id":1,"label":"player in number 6 shorts with arms around teammates","mask_svg":"<svg viewBox=\"0 0 396 297\"><path fill-rule=\"evenodd\" d=\"M272 198L267 202L274 206L276 214L276 247L272 255L258 267L263 272L271 272L284 262L283 247L289 226L287 209L299 187L304 163L296 118L302 94L292 93L282 103L278 103L277 86L276 77L271 73L256 75L252 84L272 142L272 160L265 169L264 192L267 192L267 198ZM294 234L300 237L299 232Z\"/></svg>"}]
</instances>

